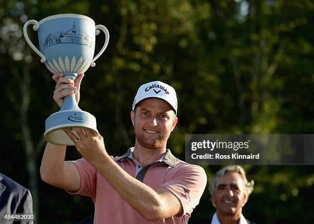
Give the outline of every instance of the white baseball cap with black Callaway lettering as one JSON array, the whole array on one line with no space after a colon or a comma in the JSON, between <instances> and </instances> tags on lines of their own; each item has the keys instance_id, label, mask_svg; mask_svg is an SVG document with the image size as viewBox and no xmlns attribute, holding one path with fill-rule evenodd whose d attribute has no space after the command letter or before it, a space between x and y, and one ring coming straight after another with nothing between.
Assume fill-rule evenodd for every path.
<instances>
[{"instance_id":1,"label":"white baseball cap with black Callaway lettering","mask_svg":"<svg viewBox=\"0 0 314 224\"><path fill-rule=\"evenodd\" d=\"M174 88L168 84L161 81L154 81L141 85L134 98L132 110L134 110L136 104L147 98L159 98L166 101L172 106L176 115L178 101L176 100Z\"/></svg>"}]
</instances>

